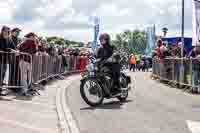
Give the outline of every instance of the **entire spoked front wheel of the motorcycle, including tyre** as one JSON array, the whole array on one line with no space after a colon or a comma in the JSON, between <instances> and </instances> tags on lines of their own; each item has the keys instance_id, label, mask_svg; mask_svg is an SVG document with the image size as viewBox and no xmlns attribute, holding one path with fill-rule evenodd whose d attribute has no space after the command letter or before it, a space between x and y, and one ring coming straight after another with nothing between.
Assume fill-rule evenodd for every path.
<instances>
[{"instance_id":1,"label":"entire spoked front wheel of the motorcycle, including tyre","mask_svg":"<svg viewBox=\"0 0 200 133\"><path fill-rule=\"evenodd\" d=\"M90 106L98 106L104 100L102 87L95 79L88 79L81 83L80 93L83 100Z\"/></svg>"}]
</instances>

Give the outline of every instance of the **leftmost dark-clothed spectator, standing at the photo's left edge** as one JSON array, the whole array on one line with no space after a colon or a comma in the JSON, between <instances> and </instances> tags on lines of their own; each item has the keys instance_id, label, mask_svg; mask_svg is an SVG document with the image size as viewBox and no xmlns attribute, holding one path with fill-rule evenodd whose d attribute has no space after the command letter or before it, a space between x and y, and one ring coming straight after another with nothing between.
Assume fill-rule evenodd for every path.
<instances>
[{"instance_id":1,"label":"leftmost dark-clothed spectator, standing at the photo's left edge","mask_svg":"<svg viewBox=\"0 0 200 133\"><path fill-rule=\"evenodd\" d=\"M2 52L14 52L15 46L12 43L10 36L10 28L7 26L3 26L0 34L0 51ZM3 81L5 78L5 73L7 70L7 64L10 62L10 57L7 53L0 53L0 85L3 85ZM0 88L0 95L2 94L2 88Z\"/></svg>"}]
</instances>

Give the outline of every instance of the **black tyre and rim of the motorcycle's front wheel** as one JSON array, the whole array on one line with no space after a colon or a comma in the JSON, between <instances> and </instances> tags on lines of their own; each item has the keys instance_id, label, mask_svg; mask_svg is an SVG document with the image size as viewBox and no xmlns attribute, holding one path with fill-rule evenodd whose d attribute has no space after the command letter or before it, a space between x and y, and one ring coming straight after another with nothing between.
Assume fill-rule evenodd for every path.
<instances>
[{"instance_id":1,"label":"black tyre and rim of the motorcycle's front wheel","mask_svg":"<svg viewBox=\"0 0 200 133\"><path fill-rule=\"evenodd\" d=\"M99 97L99 100L96 101L96 102L91 101L91 100L87 97L87 95L86 95L86 93L85 93L85 88L84 88L84 86L85 86L85 84L86 84L88 81L93 82L93 83L96 84L95 87L97 87L97 88L89 88L89 92L90 92L90 93L93 93L93 94L94 94L95 92L92 92L92 91L90 91L90 90L91 90L91 89L97 89L97 91L98 91L98 96L100 96L100 97ZM103 89L102 89L102 87L100 86L100 84L97 82L97 80L95 80L95 79L87 79L87 80L82 81L82 82L81 82L81 85L80 85L80 94L81 94L81 97L83 98L83 100L84 100L88 105L90 105L90 106L92 106L92 107L101 105L101 104L103 103L103 100L104 100Z\"/></svg>"}]
</instances>

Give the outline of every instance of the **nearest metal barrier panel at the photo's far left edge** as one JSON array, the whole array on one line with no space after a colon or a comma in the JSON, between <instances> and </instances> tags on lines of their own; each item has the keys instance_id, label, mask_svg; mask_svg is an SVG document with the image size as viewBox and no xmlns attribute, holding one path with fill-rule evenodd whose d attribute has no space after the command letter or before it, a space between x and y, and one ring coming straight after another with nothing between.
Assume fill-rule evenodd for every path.
<instances>
[{"instance_id":1,"label":"nearest metal barrier panel at the photo's far left edge","mask_svg":"<svg viewBox=\"0 0 200 133\"><path fill-rule=\"evenodd\" d=\"M31 64L29 54L0 51L0 87L22 88L24 80L31 82Z\"/></svg>"}]
</instances>

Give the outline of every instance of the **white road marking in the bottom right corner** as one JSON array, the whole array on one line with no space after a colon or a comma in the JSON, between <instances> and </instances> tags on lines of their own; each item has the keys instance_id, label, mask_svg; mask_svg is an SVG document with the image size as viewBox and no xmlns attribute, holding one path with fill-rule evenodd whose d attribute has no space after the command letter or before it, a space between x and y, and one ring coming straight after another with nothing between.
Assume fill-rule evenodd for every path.
<instances>
[{"instance_id":1,"label":"white road marking in the bottom right corner","mask_svg":"<svg viewBox=\"0 0 200 133\"><path fill-rule=\"evenodd\" d=\"M192 133L200 133L200 122L187 120L186 123Z\"/></svg>"}]
</instances>

